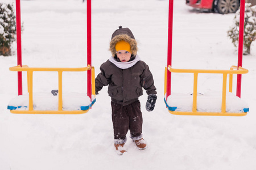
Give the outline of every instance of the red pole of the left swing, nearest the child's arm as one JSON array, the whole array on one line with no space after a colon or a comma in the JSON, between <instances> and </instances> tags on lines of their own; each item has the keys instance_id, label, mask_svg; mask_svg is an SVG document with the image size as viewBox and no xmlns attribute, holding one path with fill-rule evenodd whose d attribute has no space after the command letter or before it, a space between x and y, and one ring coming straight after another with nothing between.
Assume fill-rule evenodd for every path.
<instances>
[{"instance_id":1,"label":"red pole of the left swing, nearest the child's arm","mask_svg":"<svg viewBox=\"0 0 256 170\"><path fill-rule=\"evenodd\" d=\"M92 3L86 1L87 5L87 65L92 67ZM87 71L87 96L92 100L92 69Z\"/></svg>"}]
</instances>

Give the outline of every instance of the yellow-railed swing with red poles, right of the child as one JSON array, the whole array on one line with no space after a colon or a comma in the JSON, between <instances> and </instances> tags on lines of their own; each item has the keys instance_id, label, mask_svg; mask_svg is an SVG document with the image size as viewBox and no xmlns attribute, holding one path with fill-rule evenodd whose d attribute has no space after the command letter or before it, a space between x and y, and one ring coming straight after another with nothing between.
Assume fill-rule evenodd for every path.
<instances>
[{"instance_id":1,"label":"yellow-railed swing with red poles, right of the child","mask_svg":"<svg viewBox=\"0 0 256 170\"><path fill-rule=\"evenodd\" d=\"M194 116L245 116L249 112L247 104L241 97L241 74L248 73L242 67L243 25L245 13L245 0L241 0L240 7L240 34L238 46L238 66L230 67L230 70L199 70L199 69L174 69L171 67L172 59L172 18L173 0L169 1L169 28L168 28L168 58L164 78L164 102L171 114ZM171 94L171 73L193 74L193 94ZM222 92L217 94L199 94L197 92L197 79L199 74L222 74ZM232 94L233 74L237 74L237 95ZM227 78L229 75L229 92L226 92ZM221 99L220 99L221 98ZM204 105L204 101L210 101L211 105ZM235 107L234 107L235 105Z\"/></svg>"}]
</instances>

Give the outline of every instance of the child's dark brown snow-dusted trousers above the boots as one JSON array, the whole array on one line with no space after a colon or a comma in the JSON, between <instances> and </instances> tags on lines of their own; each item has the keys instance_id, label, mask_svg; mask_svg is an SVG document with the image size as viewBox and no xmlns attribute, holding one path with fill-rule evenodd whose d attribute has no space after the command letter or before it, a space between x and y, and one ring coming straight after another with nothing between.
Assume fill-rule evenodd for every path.
<instances>
[{"instance_id":1,"label":"child's dark brown snow-dusted trousers above the boots","mask_svg":"<svg viewBox=\"0 0 256 170\"><path fill-rule=\"evenodd\" d=\"M123 144L127 141L126 134L130 130L130 138L139 140L142 138L142 113L141 103L139 100L129 105L111 101L112 106L112 122L114 128L114 142Z\"/></svg>"}]
</instances>

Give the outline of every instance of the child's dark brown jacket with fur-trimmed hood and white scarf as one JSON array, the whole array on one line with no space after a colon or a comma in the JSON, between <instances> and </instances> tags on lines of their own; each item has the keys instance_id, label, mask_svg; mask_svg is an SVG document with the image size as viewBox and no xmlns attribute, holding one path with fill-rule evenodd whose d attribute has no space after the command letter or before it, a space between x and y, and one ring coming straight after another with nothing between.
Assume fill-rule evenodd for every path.
<instances>
[{"instance_id":1,"label":"child's dark brown jacket with fur-trimmed hood and white scarf","mask_svg":"<svg viewBox=\"0 0 256 170\"><path fill-rule=\"evenodd\" d=\"M116 56L115 44L125 40L131 46L131 59L120 62ZM129 105L143 94L142 87L148 95L156 94L153 76L145 62L137 55L137 41L129 28L117 29L110 41L112 57L100 67L101 73L95 79L96 92L103 86L108 87L108 94L114 103Z\"/></svg>"}]
</instances>

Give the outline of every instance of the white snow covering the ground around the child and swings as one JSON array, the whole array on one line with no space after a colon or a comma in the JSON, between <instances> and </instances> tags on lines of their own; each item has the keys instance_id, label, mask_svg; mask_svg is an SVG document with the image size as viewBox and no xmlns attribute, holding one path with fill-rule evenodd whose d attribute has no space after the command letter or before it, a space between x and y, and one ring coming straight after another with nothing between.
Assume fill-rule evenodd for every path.
<instances>
[{"instance_id":1,"label":"white snow covering the ground around the child and swings","mask_svg":"<svg viewBox=\"0 0 256 170\"><path fill-rule=\"evenodd\" d=\"M86 3L82 0L21 1L23 65L30 67L84 67L86 65ZM237 65L237 48L227 37L235 14L199 12L174 2L172 67L229 69ZM96 96L88 113L77 115L12 114L7 110L17 95L16 54L0 56L0 169L255 169L255 41L243 57L242 100L250 112L243 117L176 116L164 103L164 67L167 62L168 1L93 0L92 63L96 75L110 57L109 41L119 25L129 27L139 41L139 56L155 79L158 100L147 112L147 95L140 97L143 138L139 151L127 140L119 156L113 144L110 97L107 88ZM16 46L14 44L14 51ZM172 74L172 91L192 93L193 77ZM234 77L236 91L236 77ZM199 92L221 91L220 75L199 77ZM57 89L55 73L35 73L34 92ZM23 73L23 93L27 91ZM64 73L63 92L86 94L86 72ZM129 138L129 133L127 134Z\"/></svg>"}]
</instances>

